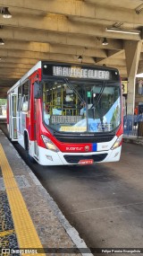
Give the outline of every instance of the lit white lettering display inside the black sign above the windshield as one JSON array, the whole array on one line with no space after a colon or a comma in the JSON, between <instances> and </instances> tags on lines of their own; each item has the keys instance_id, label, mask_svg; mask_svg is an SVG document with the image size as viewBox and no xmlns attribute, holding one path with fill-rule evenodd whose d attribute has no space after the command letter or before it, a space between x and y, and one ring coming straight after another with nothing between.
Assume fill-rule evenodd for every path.
<instances>
[{"instance_id":1,"label":"lit white lettering display inside the black sign above the windshield","mask_svg":"<svg viewBox=\"0 0 143 256\"><path fill-rule=\"evenodd\" d=\"M81 68L79 66L53 66L53 75L104 80L110 79L109 71Z\"/></svg>"}]
</instances>

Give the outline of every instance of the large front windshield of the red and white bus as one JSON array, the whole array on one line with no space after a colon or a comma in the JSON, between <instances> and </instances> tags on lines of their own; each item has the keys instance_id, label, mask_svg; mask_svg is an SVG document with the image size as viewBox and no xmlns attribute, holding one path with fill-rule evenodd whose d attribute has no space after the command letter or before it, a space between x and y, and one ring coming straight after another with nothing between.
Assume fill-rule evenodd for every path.
<instances>
[{"instance_id":1,"label":"large front windshield of the red and white bus","mask_svg":"<svg viewBox=\"0 0 143 256\"><path fill-rule=\"evenodd\" d=\"M110 132L121 123L121 89L110 81L43 81L43 119L62 133Z\"/></svg>"}]
</instances>

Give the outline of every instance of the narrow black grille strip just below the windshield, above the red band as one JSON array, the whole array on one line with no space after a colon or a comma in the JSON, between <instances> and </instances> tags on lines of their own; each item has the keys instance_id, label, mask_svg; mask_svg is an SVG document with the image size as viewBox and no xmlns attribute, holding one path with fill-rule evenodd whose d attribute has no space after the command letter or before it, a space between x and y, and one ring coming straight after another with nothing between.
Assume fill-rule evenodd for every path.
<instances>
[{"instance_id":1,"label":"narrow black grille strip just below the windshield, above the red band","mask_svg":"<svg viewBox=\"0 0 143 256\"><path fill-rule=\"evenodd\" d=\"M66 143L101 143L111 141L114 136L108 137L60 137L55 136L55 138L61 142Z\"/></svg>"}]
</instances>

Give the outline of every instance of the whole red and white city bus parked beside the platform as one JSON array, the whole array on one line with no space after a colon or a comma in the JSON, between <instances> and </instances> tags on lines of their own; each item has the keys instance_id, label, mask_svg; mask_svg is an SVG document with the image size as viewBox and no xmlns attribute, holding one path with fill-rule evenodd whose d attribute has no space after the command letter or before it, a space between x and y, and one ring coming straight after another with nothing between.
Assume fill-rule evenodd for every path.
<instances>
[{"instance_id":1,"label":"whole red and white city bus parked beside the platform","mask_svg":"<svg viewBox=\"0 0 143 256\"><path fill-rule=\"evenodd\" d=\"M39 61L8 91L10 138L42 165L119 161L122 88L117 69Z\"/></svg>"}]
</instances>

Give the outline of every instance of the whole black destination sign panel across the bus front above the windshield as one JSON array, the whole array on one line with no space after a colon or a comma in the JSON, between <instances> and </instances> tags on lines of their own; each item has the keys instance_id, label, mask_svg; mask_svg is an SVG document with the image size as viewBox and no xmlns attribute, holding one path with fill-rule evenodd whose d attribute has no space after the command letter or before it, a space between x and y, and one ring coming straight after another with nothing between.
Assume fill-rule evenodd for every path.
<instances>
[{"instance_id":1,"label":"whole black destination sign panel across the bus front above the windshield","mask_svg":"<svg viewBox=\"0 0 143 256\"><path fill-rule=\"evenodd\" d=\"M97 79L97 80L118 80L119 75L117 70L107 68L102 69L93 66L68 66L43 63L43 75L83 78L83 79Z\"/></svg>"}]
</instances>

